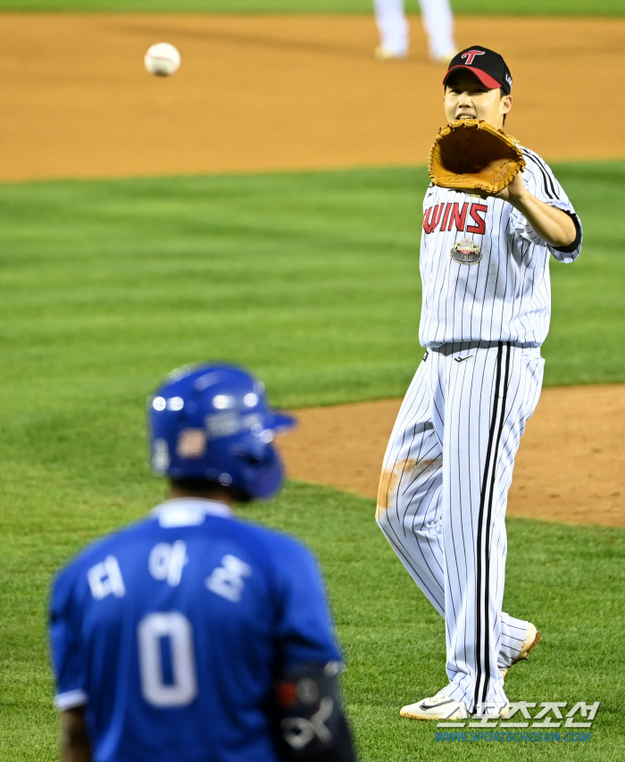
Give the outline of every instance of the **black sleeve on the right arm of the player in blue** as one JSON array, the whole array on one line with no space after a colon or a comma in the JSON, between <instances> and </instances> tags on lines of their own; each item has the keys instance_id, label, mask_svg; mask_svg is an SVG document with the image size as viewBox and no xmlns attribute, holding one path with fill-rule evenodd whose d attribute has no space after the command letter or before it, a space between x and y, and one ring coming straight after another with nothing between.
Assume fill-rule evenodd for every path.
<instances>
[{"instance_id":1,"label":"black sleeve on the right arm of the player in blue","mask_svg":"<svg viewBox=\"0 0 625 762\"><path fill-rule=\"evenodd\" d=\"M339 669L337 662L300 665L279 678L276 709L284 762L355 762Z\"/></svg>"}]
</instances>

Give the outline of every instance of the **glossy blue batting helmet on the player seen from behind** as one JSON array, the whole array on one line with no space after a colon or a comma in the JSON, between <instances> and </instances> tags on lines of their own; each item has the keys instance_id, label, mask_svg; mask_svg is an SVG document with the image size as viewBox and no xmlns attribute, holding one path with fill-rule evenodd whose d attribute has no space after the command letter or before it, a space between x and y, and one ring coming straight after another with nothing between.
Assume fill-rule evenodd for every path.
<instances>
[{"instance_id":1,"label":"glossy blue batting helmet on the player seen from behind","mask_svg":"<svg viewBox=\"0 0 625 762\"><path fill-rule=\"evenodd\" d=\"M271 498L284 469L272 441L295 419L272 410L264 384L233 365L171 373L148 398L154 473L214 481L246 498Z\"/></svg>"}]
</instances>

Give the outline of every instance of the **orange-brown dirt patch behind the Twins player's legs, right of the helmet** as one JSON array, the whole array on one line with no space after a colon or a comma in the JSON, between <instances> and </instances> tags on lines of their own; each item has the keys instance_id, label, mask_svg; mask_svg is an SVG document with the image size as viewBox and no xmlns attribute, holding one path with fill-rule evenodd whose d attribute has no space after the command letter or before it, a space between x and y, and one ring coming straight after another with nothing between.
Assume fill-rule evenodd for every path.
<instances>
[{"instance_id":1,"label":"orange-brown dirt patch behind the Twins player's legs, right of the helmet","mask_svg":"<svg viewBox=\"0 0 625 762\"><path fill-rule=\"evenodd\" d=\"M401 400L314 407L280 442L294 479L375 498ZM625 527L625 384L545 389L514 467L508 511Z\"/></svg>"}]
</instances>

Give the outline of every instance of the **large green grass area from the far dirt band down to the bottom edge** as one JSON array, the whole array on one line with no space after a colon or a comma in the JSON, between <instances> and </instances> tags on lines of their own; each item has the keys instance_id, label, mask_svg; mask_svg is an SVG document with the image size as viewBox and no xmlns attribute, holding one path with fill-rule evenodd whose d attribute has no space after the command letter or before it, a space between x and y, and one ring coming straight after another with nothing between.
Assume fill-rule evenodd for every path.
<instances>
[{"instance_id":1,"label":"large green grass area from the far dirt band down to the bottom edge","mask_svg":"<svg viewBox=\"0 0 625 762\"><path fill-rule=\"evenodd\" d=\"M554 264L550 384L625 381L625 162L555 167L585 227ZM53 762L46 590L87 540L162 494L144 406L173 367L249 365L281 406L397 397L421 357L422 169L0 186L0 760ZM600 339L600 340L599 340ZM601 700L592 741L443 748L396 710L444 682L442 622L371 500L292 484L250 517L304 537L328 574L363 762L625 758L625 532L512 521L506 607L545 632L511 699ZM356 594L357 592L357 594Z\"/></svg>"}]
</instances>

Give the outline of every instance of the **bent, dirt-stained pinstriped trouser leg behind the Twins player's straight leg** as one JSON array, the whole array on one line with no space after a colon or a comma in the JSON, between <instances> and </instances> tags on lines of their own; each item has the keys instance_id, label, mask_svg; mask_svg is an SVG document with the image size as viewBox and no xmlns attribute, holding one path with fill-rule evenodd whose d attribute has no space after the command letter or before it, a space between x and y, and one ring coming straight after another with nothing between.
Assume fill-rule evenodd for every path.
<instances>
[{"instance_id":1,"label":"bent, dirt-stained pinstriped trouser leg behind the Twins player's straight leg","mask_svg":"<svg viewBox=\"0 0 625 762\"><path fill-rule=\"evenodd\" d=\"M433 424L436 385L437 356L429 353L406 392L388 443L376 518L414 582L444 616L442 447ZM528 624L502 613L499 668L510 666L519 655Z\"/></svg>"}]
</instances>

